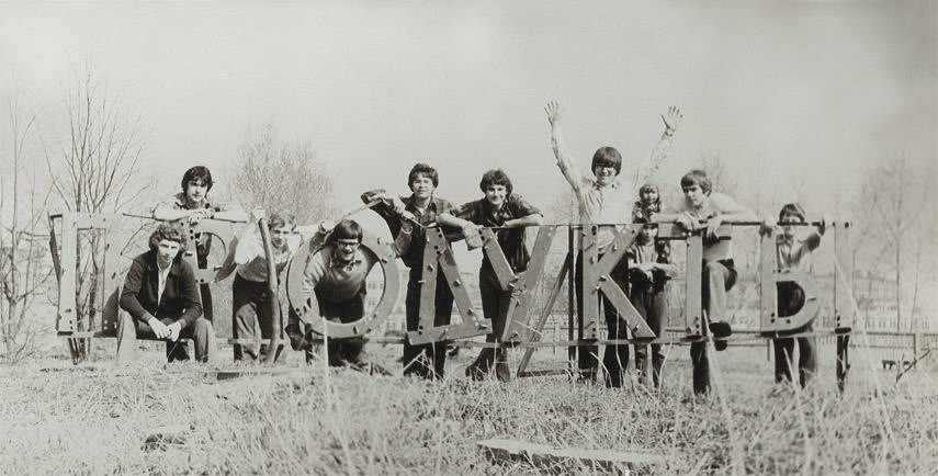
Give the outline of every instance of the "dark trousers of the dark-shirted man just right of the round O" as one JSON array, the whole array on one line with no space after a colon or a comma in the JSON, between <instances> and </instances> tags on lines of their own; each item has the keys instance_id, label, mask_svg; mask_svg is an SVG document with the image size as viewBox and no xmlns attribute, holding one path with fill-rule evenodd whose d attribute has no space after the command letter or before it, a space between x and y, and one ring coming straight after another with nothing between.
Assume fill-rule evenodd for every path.
<instances>
[{"instance_id":1,"label":"dark trousers of the dark-shirted man just right of the round O","mask_svg":"<svg viewBox=\"0 0 938 476\"><path fill-rule=\"evenodd\" d=\"M410 277L407 281L407 331L417 330L420 322L420 280L421 268L411 268ZM453 293L447 283L447 276L440 271L437 273L437 290L434 297L434 326L450 324L453 313ZM447 365L447 343L433 342L413 345L404 341L404 375L418 375L423 378L442 378Z\"/></svg>"}]
</instances>

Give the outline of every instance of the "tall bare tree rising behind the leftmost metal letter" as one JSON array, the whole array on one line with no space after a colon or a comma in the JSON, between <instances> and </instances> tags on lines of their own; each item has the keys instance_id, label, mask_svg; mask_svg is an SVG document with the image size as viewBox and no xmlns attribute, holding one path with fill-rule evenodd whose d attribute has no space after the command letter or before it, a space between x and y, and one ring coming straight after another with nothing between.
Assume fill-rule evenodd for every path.
<instances>
[{"instance_id":1,"label":"tall bare tree rising behind the leftmost metal letter","mask_svg":"<svg viewBox=\"0 0 938 476\"><path fill-rule=\"evenodd\" d=\"M149 189L138 168L147 138L140 115L129 113L121 95L112 93L90 65L70 81L65 115L67 129L46 147L53 190L61 206L79 213L113 213L137 201ZM78 240L78 330L92 329L100 315L104 245L101 233ZM90 341L71 343L72 358L84 359Z\"/></svg>"}]
</instances>

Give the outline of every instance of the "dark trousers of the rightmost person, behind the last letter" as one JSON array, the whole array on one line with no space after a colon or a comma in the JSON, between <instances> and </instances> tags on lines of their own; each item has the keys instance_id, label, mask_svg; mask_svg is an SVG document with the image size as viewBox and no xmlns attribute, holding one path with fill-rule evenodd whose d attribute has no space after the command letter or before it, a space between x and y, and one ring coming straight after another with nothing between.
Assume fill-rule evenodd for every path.
<instances>
[{"instance_id":1,"label":"dark trousers of the rightmost person, behind the last letter","mask_svg":"<svg viewBox=\"0 0 938 476\"><path fill-rule=\"evenodd\" d=\"M793 316L804 306L804 292L791 282L776 284L779 299L779 317ZM804 331L810 332L811 326ZM791 366L794 359L793 338L772 339L776 358L776 383L791 382ZM798 381L804 387L817 372L816 343L813 337L798 338Z\"/></svg>"}]
</instances>

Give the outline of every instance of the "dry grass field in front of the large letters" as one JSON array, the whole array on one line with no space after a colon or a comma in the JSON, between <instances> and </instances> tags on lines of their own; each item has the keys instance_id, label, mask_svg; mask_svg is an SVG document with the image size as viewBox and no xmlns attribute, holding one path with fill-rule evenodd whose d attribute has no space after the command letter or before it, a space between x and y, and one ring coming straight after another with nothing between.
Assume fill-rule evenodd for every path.
<instances>
[{"instance_id":1,"label":"dry grass field in front of the large letters","mask_svg":"<svg viewBox=\"0 0 938 476\"><path fill-rule=\"evenodd\" d=\"M396 352L376 349L388 362ZM438 383L327 373L295 355L276 373L218 379L205 366L162 364L156 348L128 367L53 359L0 367L0 473L604 472L575 461L493 461L476 445L493 438L668 458L613 468L632 474L938 467L934 371L915 370L896 384L894 372L871 371L861 349L843 396L833 385L833 350L822 349L818 385L800 390L771 384L765 349L731 349L717 354L721 392L704 399L689 397L686 348L671 352L660 393L563 376L474 383L462 377L472 353L464 350ZM161 427L173 428L174 439L145 444Z\"/></svg>"}]
</instances>

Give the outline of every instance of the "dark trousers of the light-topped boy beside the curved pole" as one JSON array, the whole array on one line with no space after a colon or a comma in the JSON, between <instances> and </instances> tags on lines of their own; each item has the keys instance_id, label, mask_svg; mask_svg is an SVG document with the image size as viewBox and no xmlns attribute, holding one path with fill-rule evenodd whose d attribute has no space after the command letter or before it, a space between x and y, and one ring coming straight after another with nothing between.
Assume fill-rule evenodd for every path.
<instances>
[{"instance_id":1,"label":"dark trousers of the light-topped boy beside the curved pole","mask_svg":"<svg viewBox=\"0 0 938 476\"><path fill-rule=\"evenodd\" d=\"M260 328L261 339L270 339L273 336L273 313L280 311L280 303L274 302L276 296L271 295L267 282L249 281L235 274L231 283L231 337L235 339L257 339L256 329ZM281 314L281 322L283 322ZM257 326L255 326L257 319ZM283 340L283 329L280 329L280 339ZM256 343L239 344L233 347L235 361L257 360L268 352L268 345ZM283 345L276 349L276 358ZM276 360L276 359L274 359Z\"/></svg>"}]
</instances>

